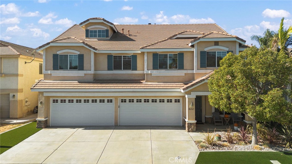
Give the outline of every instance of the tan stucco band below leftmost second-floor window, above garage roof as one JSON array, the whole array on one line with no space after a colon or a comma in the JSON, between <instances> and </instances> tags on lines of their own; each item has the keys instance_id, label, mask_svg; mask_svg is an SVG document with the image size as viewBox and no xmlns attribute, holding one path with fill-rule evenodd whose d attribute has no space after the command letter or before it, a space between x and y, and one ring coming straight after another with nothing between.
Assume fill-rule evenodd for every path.
<instances>
[{"instance_id":1,"label":"tan stucco band below leftmost second-floor window, above garage roof","mask_svg":"<svg viewBox=\"0 0 292 164\"><path fill-rule=\"evenodd\" d=\"M52 76L52 74L44 74L44 79L52 81L93 81L93 74L84 74L84 76Z\"/></svg>"}]
</instances>

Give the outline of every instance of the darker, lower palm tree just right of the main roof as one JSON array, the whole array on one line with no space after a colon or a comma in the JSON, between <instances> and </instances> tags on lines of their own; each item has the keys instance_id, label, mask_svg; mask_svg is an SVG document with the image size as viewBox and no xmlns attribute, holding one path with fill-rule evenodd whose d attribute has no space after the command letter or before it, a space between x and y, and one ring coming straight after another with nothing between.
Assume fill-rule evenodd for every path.
<instances>
[{"instance_id":1,"label":"darker, lower palm tree just right of the main roof","mask_svg":"<svg viewBox=\"0 0 292 164\"><path fill-rule=\"evenodd\" d=\"M272 40L273 36L275 35L274 31L271 31L270 29L266 29L263 36L260 35L252 35L251 40L257 41L261 47L269 47L270 41Z\"/></svg>"}]
</instances>

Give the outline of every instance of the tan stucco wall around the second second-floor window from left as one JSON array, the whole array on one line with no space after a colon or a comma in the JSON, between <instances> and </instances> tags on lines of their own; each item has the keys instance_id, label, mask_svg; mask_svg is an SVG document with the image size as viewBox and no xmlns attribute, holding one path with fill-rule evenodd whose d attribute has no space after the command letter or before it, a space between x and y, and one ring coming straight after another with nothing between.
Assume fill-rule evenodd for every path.
<instances>
[{"instance_id":1,"label":"tan stucco wall around the second second-floor window from left","mask_svg":"<svg viewBox=\"0 0 292 164\"><path fill-rule=\"evenodd\" d=\"M128 53L94 53L94 70L107 71L107 55L131 55ZM133 53L137 55L137 71L144 71L144 53Z\"/></svg>"}]
</instances>

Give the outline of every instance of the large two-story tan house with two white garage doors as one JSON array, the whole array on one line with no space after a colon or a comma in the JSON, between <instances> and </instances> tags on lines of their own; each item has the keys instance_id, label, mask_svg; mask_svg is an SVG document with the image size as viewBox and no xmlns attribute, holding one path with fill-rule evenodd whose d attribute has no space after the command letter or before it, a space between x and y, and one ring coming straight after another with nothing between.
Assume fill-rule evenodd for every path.
<instances>
[{"instance_id":1,"label":"large two-story tan house with two white garage doors","mask_svg":"<svg viewBox=\"0 0 292 164\"><path fill-rule=\"evenodd\" d=\"M114 25L90 18L37 48L44 54L38 126L178 125L215 108L208 78L246 41L216 24ZM223 113L224 114L224 113Z\"/></svg>"}]
</instances>

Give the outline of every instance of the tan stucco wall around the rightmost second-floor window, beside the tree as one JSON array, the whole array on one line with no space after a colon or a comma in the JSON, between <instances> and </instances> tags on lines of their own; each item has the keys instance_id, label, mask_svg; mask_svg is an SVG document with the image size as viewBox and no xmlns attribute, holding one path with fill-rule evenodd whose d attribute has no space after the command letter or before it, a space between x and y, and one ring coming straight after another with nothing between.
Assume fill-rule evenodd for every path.
<instances>
[{"instance_id":1,"label":"tan stucco wall around the rightmost second-floor window, beside the tree","mask_svg":"<svg viewBox=\"0 0 292 164\"><path fill-rule=\"evenodd\" d=\"M200 51L205 51L204 48L214 46L214 41L200 41L197 43L197 64L198 69L215 69L216 67L200 68ZM236 53L236 41L219 41L219 46L229 48L228 51ZM225 51L222 49L211 49L207 51Z\"/></svg>"}]
</instances>

